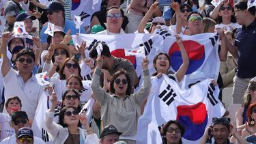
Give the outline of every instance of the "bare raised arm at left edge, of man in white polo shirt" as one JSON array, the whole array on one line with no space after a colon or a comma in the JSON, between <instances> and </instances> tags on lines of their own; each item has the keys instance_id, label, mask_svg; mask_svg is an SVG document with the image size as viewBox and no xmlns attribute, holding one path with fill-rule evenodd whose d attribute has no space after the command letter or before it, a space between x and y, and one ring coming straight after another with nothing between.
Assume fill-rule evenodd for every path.
<instances>
[{"instance_id":1,"label":"bare raised arm at left edge, of man in white polo shirt","mask_svg":"<svg viewBox=\"0 0 256 144\"><path fill-rule=\"evenodd\" d=\"M2 63L2 67L1 67L1 72L2 72L3 76L5 76L11 69L9 59L7 56L7 48L6 48L7 42L8 42L8 40L10 40L11 37L12 37L12 33L10 33L10 32L5 32L2 35L0 56L1 56L1 54L3 54L3 63Z\"/></svg>"}]
</instances>

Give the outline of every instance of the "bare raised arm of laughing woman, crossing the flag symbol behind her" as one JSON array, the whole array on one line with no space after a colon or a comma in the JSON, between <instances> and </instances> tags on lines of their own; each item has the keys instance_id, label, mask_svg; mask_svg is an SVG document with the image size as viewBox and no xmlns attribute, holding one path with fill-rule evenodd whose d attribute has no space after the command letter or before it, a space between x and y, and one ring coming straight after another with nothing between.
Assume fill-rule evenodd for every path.
<instances>
[{"instance_id":1,"label":"bare raised arm of laughing woman, crossing the flag symbol behind her","mask_svg":"<svg viewBox=\"0 0 256 144\"><path fill-rule=\"evenodd\" d=\"M177 45L180 47L180 53L182 53L182 66L180 66L179 70L175 72L175 75L177 77L177 80L180 82L182 81L182 78L184 78L184 75L186 74L186 70L188 70L189 66L189 59L188 54L186 53L186 50L184 48L184 45L182 44L182 38L180 35L175 35Z\"/></svg>"}]
</instances>

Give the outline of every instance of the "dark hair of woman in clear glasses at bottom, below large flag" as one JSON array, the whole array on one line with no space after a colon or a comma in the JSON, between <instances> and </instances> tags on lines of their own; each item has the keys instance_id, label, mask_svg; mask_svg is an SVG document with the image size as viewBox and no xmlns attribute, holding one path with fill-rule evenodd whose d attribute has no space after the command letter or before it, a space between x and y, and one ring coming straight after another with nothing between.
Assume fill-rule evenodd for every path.
<instances>
[{"instance_id":1,"label":"dark hair of woman in clear glasses at bottom, below large flag","mask_svg":"<svg viewBox=\"0 0 256 144\"><path fill-rule=\"evenodd\" d=\"M164 126L162 126L162 129L161 129L161 134L162 134L162 136L165 136L165 135L166 135L166 133L167 133L167 128L169 128L169 126L170 126L171 124L177 125L177 127L180 128L181 135L182 135L182 136L184 135L184 133L185 133L185 128L184 128L184 126L182 126L182 125L179 123L179 121L177 121L177 120L170 120L170 121L167 122L167 124L165 124ZM165 137L163 137L162 140L163 140L163 141L162 141L163 144L167 144L167 139L166 139ZM180 139L179 144L182 144L182 138Z\"/></svg>"}]
</instances>

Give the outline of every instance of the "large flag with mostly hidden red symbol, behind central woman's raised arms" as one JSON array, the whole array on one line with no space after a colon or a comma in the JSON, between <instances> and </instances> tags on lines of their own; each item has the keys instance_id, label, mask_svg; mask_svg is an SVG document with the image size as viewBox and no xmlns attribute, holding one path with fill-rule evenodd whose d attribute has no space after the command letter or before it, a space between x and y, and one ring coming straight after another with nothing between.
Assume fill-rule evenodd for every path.
<instances>
[{"instance_id":1,"label":"large flag with mostly hidden red symbol, behind central woman's raised arms","mask_svg":"<svg viewBox=\"0 0 256 144\"><path fill-rule=\"evenodd\" d=\"M105 42L110 48L111 55L130 60L139 77L142 74L141 61L144 55L150 60L149 69L151 73L155 71L152 61L156 55L156 49L162 47L163 40L161 35L144 33L128 33L124 35L90 35L82 33L79 37L72 35L72 38L73 42L76 42L74 45L80 45L83 41L86 41L88 46L86 51L90 51L97 42ZM140 48L143 48L141 55L137 53L136 55L126 56L127 51L137 51Z\"/></svg>"}]
</instances>

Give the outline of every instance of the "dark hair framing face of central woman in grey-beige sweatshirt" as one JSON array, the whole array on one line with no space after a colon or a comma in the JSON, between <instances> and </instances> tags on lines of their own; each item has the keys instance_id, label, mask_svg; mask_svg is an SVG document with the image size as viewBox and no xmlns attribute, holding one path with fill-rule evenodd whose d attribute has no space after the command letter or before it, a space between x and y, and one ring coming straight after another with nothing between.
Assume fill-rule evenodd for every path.
<instances>
[{"instance_id":1,"label":"dark hair framing face of central woman in grey-beige sweatshirt","mask_svg":"<svg viewBox=\"0 0 256 144\"><path fill-rule=\"evenodd\" d=\"M131 93L131 90L132 90L132 87L130 85L130 77L128 76L126 70L124 70L124 69L118 70L117 72L115 72L115 74L113 74L113 78L110 81L110 90L109 91L110 91L110 93L115 93L114 81L121 74L124 74L126 76L126 79L128 81L128 83L127 83L128 87L126 89L126 95L130 96L130 93Z\"/></svg>"}]
</instances>

